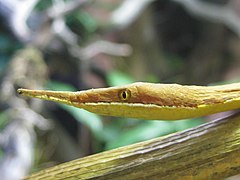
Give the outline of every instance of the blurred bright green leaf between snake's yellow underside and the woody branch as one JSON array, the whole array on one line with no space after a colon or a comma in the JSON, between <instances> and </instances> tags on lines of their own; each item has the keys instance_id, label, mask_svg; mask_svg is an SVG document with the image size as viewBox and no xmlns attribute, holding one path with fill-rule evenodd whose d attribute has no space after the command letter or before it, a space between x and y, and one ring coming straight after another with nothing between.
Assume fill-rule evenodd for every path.
<instances>
[{"instance_id":1,"label":"blurred bright green leaf between snake's yellow underside and the woody branch","mask_svg":"<svg viewBox=\"0 0 240 180\"><path fill-rule=\"evenodd\" d=\"M122 119L121 121L126 120ZM117 131L111 130L111 132L115 133L115 138L109 140L106 143L106 149L114 149L128 144L133 144L155 137L164 136L170 133L174 133L176 131L197 126L201 123L201 119L190 119L181 121L138 121L138 123L134 127L130 129L124 129L123 131L121 131L121 133L118 133L118 135L116 135L116 132L119 132L119 129ZM104 131L104 133L108 132L109 130ZM113 134L110 135L113 136Z\"/></svg>"}]
</instances>

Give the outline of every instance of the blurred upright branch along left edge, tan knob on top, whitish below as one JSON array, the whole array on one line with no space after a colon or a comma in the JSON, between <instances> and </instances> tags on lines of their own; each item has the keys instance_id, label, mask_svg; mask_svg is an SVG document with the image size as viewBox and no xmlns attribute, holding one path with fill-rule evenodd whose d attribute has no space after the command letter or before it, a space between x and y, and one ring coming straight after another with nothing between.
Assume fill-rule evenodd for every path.
<instances>
[{"instance_id":1,"label":"blurred upright branch along left edge, tan knob on top, whitish below","mask_svg":"<svg viewBox=\"0 0 240 180\"><path fill-rule=\"evenodd\" d=\"M0 87L1 103L6 107L2 114L7 124L0 131L1 179L21 179L33 163L35 132L51 128L50 123L36 113L41 104L29 105L16 96L19 86L34 88L42 86L46 78L46 66L39 51L26 48L13 57Z\"/></svg>"}]
</instances>

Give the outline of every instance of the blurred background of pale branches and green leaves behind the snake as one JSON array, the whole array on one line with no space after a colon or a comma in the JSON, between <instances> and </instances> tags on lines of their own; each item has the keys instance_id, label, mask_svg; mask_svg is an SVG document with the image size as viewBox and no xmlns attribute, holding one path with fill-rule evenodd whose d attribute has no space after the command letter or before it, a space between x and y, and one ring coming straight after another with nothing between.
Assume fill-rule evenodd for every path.
<instances>
[{"instance_id":1,"label":"blurred background of pale branches and green leaves behind the snake","mask_svg":"<svg viewBox=\"0 0 240 180\"><path fill-rule=\"evenodd\" d=\"M19 87L239 81L238 0L0 0L0 19L3 179L224 115L171 122L103 117L19 97Z\"/></svg>"}]
</instances>

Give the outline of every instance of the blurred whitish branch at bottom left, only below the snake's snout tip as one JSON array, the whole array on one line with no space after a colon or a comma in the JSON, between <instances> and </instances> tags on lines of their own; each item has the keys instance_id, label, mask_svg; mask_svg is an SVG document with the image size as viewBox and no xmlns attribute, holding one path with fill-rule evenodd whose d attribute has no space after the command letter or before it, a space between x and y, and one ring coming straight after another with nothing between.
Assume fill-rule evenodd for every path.
<instances>
[{"instance_id":1,"label":"blurred whitish branch at bottom left, only below the snake's snout tip","mask_svg":"<svg viewBox=\"0 0 240 180\"><path fill-rule=\"evenodd\" d=\"M12 99L13 100L13 99ZM0 132L1 179L20 179L29 173L34 158L34 126L41 130L50 128L49 122L26 106L23 100L14 98L19 107L11 107L5 113L9 122ZM14 171L13 171L14 169Z\"/></svg>"}]
</instances>

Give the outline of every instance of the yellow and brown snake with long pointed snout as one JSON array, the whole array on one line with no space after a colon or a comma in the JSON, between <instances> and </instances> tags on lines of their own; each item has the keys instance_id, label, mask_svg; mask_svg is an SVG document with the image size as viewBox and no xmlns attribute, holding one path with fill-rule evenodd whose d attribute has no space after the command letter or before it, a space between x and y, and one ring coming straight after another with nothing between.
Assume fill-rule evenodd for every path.
<instances>
[{"instance_id":1,"label":"yellow and brown snake with long pointed snout","mask_svg":"<svg viewBox=\"0 0 240 180\"><path fill-rule=\"evenodd\" d=\"M145 120L189 119L240 108L240 83L197 86L136 82L76 92L23 88L17 91L99 115Z\"/></svg>"}]
</instances>

